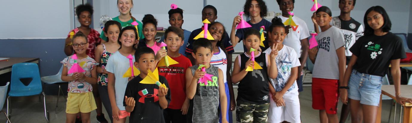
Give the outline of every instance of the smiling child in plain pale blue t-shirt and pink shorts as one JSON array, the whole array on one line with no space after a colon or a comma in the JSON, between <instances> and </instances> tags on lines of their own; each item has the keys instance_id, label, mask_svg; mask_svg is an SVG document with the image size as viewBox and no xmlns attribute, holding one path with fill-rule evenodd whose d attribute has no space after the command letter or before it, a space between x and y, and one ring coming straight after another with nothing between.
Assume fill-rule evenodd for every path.
<instances>
[{"instance_id":1,"label":"smiling child in plain pale blue t-shirt and pink shorts","mask_svg":"<svg viewBox=\"0 0 412 123\"><path fill-rule=\"evenodd\" d=\"M126 117L130 115L123 106L124 90L127 82L133 77L123 77L123 74L130 67L127 56L135 53L133 48L137 43L136 28L124 27L119 33L117 43L120 44L120 49L109 57L105 69L108 72L108 92L110 105L112 105L113 123L124 123Z\"/></svg>"}]
</instances>

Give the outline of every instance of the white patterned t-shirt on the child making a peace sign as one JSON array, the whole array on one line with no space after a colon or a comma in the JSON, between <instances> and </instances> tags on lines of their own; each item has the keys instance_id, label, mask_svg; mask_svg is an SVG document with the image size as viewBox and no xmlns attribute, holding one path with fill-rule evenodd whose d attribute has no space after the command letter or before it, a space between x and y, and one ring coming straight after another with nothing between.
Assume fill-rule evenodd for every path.
<instances>
[{"instance_id":1,"label":"white patterned t-shirt on the child making a peace sign","mask_svg":"<svg viewBox=\"0 0 412 123\"><path fill-rule=\"evenodd\" d=\"M272 52L271 48L268 48L263 53L270 54ZM275 88L276 92L282 91L286 83L292 74L292 68L300 66L300 62L295 50L289 46L283 45L283 48L279 50L279 55L276 57L276 66L278 67L278 77L276 79L269 78L272 86ZM296 90L297 84L296 80L293 85L288 89L289 91Z\"/></svg>"}]
</instances>

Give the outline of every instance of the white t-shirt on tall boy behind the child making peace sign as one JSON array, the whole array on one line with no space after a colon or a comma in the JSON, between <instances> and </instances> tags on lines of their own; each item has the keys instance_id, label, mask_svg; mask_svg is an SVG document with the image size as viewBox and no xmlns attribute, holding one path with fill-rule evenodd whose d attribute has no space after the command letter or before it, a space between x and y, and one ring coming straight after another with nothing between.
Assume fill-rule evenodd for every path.
<instances>
[{"instance_id":1,"label":"white t-shirt on tall boy behind the child making peace sign","mask_svg":"<svg viewBox=\"0 0 412 123\"><path fill-rule=\"evenodd\" d=\"M283 23L285 23L285 21L289 19L283 16L278 16L278 18L281 18ZM292 26L292 28L289 29L289 34L286 35L285 39L283 40L283 44L295 49L297 57L300 58L300 55L302 54L302 45L300 44L300 40L306 39L310 36L310 34L305 21L298 18L297 16L293 16L292 20L295 21L297 26Z\"/></svg>"}]
</instances>

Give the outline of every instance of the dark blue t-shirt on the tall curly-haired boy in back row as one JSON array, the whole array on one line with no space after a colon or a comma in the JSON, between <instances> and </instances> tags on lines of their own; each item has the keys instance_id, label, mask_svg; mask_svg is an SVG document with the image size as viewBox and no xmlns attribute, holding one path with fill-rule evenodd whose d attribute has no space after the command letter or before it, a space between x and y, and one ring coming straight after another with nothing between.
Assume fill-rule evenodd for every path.
<instances>
[{"instance_id":1,"label":"dark blue t-shirt on the tall curly-haired boy in back row","mask_svg":"<svg viewBox=\"0 0 412 123\"><path fill-rule=\"evenodd\" d=\"M270 25L272 25L272 23L270 23L266 19L262 19L262 21L260 21L259 23L255 23L255 24L250 23L250 21L247 21L247 23L249 23L252 27L236 30L236 37L239 38L239 42L245 38L243 37L243 35L245 34L246 31L248 31L249 29L256 29L259 31L261 26L265 26L265 30L263 32L265 33L265 37L266 37L267 32L269 31ZM263 44L265 44L265 47L260 46L260 49L262 49L262 51L265 51L269 47L269 44L267 43L266 40L263 41ZM246 49L244 45L243 45L243 50L244 52L248 51L248 49Z\"/></svg>"}]
</instances>

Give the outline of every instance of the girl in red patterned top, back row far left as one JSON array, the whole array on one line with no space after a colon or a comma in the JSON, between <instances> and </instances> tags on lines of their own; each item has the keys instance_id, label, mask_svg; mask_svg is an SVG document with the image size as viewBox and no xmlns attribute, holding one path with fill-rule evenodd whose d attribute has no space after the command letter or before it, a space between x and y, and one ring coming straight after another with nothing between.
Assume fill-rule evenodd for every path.
<instances>
[{"instance_id":1,"label":"girl in red patterned top, back row far left","mask_svg":"<svg viewBox=\"0 0 412 123\"><path fill-rule=\"evenodd\" d=\"M89 27L91 24L91 15L93 14L93 7L90 4L78 5L76 7L76 14L77 19L80 23L80 27L70 30L70 32L74 32L74 34L76 34L77 32L83 32L83 34L87 36L89 46L87 46L86 54L92 59L94 59L94 50L96 49L96 46L101 43L101 39L98 37L99 32ZM67 56L73 54L73 47L71 46L73 39L70 38L70 32L67 35L66 43L64 45L64 53Z\"/></svg>"}]
</instances>

